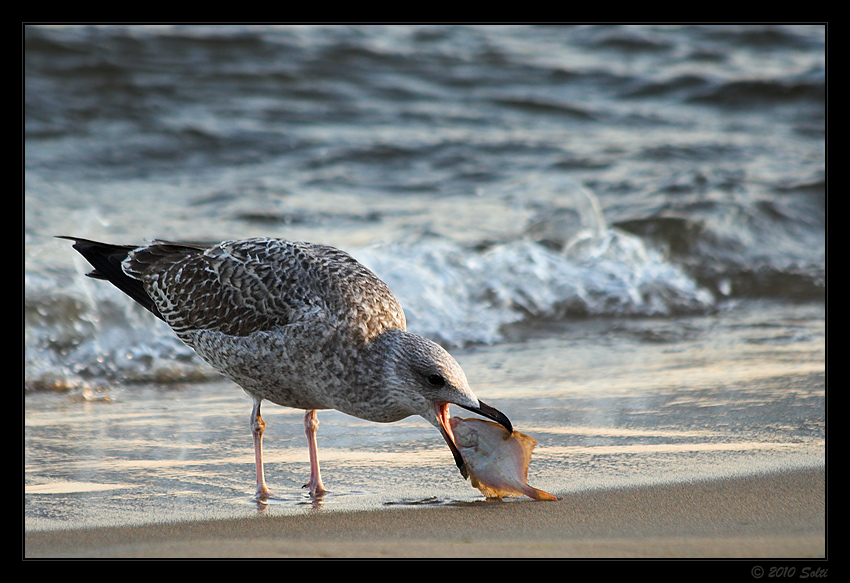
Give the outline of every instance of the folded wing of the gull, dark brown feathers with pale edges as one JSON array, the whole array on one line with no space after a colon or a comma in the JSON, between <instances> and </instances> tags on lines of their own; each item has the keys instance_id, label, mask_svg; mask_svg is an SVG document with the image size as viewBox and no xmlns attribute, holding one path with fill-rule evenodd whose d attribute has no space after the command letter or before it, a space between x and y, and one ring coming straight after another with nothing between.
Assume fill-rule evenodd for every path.
<instances>
[{"instance_id":1,"label":"folded wing of the gull, dark brown feathers with pale edges","mask_svg":"<svg viewBox=\"0 0 850 583\"><path fill-rule=\"evenodd\" d=\"M178 334L247 336L307 318L337 329L358 327L353 332L367 339L387 327L405 327L386 285L333 247L280 239L155 241L131 251L123 269L144 283Z\"/></svg>"}]
</instances>

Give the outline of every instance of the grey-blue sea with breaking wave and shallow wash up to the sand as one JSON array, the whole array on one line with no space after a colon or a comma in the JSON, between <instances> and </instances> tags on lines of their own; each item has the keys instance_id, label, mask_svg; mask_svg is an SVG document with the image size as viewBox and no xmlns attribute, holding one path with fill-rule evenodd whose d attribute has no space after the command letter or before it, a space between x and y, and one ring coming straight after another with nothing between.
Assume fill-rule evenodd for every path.
<instances>
[{"instance_id":1,"label":"grey-blue sea with breaking wave and shallow wash up to the sand","mask_svg":"<svg viewBox=\"0 0 850 583\"><path fill-rule=\"evenodd\" d=\"M55 235L346 249L562 495L823 463L825 27L23 33L29 527L256 511L250 401ZM480 498L423 420L320 419L326 508Z\"/></svg>"}]
</instances>

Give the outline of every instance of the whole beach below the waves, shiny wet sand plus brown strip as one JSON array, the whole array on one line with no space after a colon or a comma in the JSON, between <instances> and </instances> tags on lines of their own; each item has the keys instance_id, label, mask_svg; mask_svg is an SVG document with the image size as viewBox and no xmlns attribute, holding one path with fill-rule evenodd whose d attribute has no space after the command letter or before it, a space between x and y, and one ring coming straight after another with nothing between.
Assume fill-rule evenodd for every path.
<instances>
[{"instance_id":1,"label":"whole beach below the waves, shiny wet sand plus brown strip","mask_svg":"<svg viewBox=\"0 0 850 583\"><path fill-rule=\"evenodd\" d=\"M750 334L741 321L730 315L730 329ZM822 564L823 321L806 321L813 333L782 351L724 332L721 318L711 342L675 351L560 335L465 353L483 394L540 440L529 482L554 502L485 501L421 421L328 412L320 451L332 492L313 508L300 488L300 414L269 408L270 477L286 499L258 510L245 397L232 386L33 394L23 554Z\"/></svg>"}]
</instances>

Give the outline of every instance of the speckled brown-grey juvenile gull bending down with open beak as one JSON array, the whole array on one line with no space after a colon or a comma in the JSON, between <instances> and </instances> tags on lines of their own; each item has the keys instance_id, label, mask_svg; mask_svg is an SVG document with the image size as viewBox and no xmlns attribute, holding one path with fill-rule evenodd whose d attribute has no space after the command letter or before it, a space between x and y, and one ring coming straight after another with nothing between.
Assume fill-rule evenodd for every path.
<instances>
[{"instance_id":1,"label":"speckled brown-grey juvenile gull bending down with open beak","mask_svg":"<svg viewBox=\"0 0 850 583\"><path fill-rule=\"evenodd\" d=\"M319 409L369 421L420 415L440 430L464 478L449 423L454 403L512 430L472 393L460 365L438 344L407 332L387 285L350 255L281 239L218 244L153 241L111 245L78 237L74 249L104 279L164 320L206 362L253 399L251 433L258 499L263 474L263 400L304 409L309 487L319 472Z\"/></svg>"}]
</instances>

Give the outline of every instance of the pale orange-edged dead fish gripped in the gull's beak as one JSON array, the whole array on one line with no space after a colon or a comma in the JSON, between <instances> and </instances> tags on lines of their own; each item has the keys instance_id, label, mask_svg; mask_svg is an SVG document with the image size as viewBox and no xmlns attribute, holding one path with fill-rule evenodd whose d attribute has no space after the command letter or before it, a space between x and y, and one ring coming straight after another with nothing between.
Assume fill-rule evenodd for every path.
<instances>
[{"instance_id":1,"label":"pale orange-edged dead fish gripped in the gull's beak","mask_svg":"<svg viewBox=\"0 0 850 583\"><path fill-rule=\"evenodd\" d=\"M557 500L555 496L528 485L528 464L537 440L513 433L483 419L449 420L455 445L460 450L472 485L487 498L528 496L535 500Z\"/></svg>"}]
</instances>

